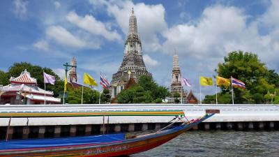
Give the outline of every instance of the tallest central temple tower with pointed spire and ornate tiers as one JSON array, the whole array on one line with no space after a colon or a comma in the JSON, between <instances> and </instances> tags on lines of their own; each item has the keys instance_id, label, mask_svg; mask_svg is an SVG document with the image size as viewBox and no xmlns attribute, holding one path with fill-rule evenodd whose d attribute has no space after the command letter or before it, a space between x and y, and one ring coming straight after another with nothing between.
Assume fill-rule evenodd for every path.
<instances>
[{"instance_id":1,"label":"tallest central temple tower with pointed spire and ornate tiers","mask_svg":"<svg viewBox=\"0 0 279 157\"><path fill-rule=\"evenodd\" d=\"M130 80L130 77L133 77L135 82L137 82L141 75L151 76L151 73L146 70L144 64L142 42L137 33L137 17L132 9L129 18L129 31L123 52L123 61L117 73L112 75L112 98L115 98L125 88L124 86Z\"/></svg>"}]
</instances>

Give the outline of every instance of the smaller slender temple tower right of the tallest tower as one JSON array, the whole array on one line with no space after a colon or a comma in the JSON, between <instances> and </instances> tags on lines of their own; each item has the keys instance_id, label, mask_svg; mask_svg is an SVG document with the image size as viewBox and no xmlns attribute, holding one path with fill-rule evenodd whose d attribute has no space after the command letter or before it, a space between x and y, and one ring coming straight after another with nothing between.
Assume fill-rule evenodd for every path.
<instances>
[{"instance_id":1,"label":"smaller slender temple tower right of the tallest tower","mask_svg":"<svg viewBox=\"0 0 279 157\"><path fill-rule=\"evenodd\" d=\"M171 93L178 92L181 94L183 93L183 88L181 87L181 71L179 68L179 56L174 54L173 57L173 68L172 68L172 82L170 85Z\"/></svg>"}]
</instances>

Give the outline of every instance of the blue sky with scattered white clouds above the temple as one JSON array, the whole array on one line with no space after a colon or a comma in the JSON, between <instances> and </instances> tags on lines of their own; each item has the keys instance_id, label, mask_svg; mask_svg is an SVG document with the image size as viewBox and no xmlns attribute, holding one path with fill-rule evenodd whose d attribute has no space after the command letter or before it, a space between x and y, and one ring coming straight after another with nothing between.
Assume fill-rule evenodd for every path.
<instances>
[{"instance_id":1,"label":"blue sky with scattered white clouds above the temple","mask_svg":"<svg viewBox=\"0 0 279 157\"><path fill-rule=\"evenodd\" d=\"M0 70L27 61L63 76L77 59L77 80L100 71L109 81L123 59L134 8L146 68L170 86L172 56L199 98L199 76L213 77L229 52L253 52L279 72L279 1L0 1ZM215 87L202 87L202 97Z\"/></svg>"}]
</instances>

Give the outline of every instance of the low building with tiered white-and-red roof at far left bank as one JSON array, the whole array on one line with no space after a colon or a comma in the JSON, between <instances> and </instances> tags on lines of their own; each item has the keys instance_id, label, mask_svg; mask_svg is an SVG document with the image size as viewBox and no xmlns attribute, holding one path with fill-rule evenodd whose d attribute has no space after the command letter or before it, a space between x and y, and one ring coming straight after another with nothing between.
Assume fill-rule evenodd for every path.
<instances>
[{"instance_id":1,"label":"low building with tiered white-and-red roof at far left bank","mask_svg":"<svg viewBox=\"0 0 279 157\"><path fill-rule=\"evenodd\" d=\"M10 84L0 90L0 104L59 104L60 102L60 98L53 97L52 91L40 89L37 80L31 77L27 70L18 77L11 77Z\"/></svg>"}]
</instances>

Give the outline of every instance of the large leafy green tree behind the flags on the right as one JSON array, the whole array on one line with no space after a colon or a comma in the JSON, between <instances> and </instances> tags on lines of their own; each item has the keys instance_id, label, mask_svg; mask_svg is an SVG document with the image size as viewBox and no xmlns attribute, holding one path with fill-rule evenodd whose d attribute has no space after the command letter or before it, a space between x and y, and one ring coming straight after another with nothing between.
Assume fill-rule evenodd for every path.
<instances>
[{"instance_id":1,"label":"large leafy green tree behind the flags on the right","mask_svg":"<svg viewBox=\"0 0 279 157\"><path fill-rule=\"evenodd\" d=\"M264 96L278 86L278 74L266 68L257 54L251 52L230 52L224 63L218 63L219 76L237 78L246 84L246 89L234 88L234 103L266 103ZM230 94L231 89L221 88L221 94ZM211 97L207 96L206 101ZM220 97L222 98L222 96ZM225 98L225 102L228 99ZM218 97L218 103L222 102Z\"/></svg>"}]
</instances>

